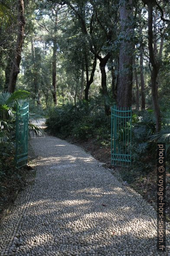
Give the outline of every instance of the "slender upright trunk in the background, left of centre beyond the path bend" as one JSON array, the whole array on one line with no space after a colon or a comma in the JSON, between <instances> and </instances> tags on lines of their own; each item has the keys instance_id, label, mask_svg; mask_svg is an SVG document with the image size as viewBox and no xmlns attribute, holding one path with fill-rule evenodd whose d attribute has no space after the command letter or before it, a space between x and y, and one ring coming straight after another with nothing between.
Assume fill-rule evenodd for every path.
<instances>
[{"instance_id":1,"label":"slender upright trunk in the background, left of centre beyond the path bend","mask_svg":"<svg viewBox=\"0 0 170 256\"><path fill-rule=\"evenodd\" d=\"M57 13L55 17L54 24L54 39L53 42L53 54L52 54L52 98L54 105L57 105L57 94L56 94L56 64L57 64L57 41L56 41L56 32L57 32Z\"/></svg>"}]
</instances>

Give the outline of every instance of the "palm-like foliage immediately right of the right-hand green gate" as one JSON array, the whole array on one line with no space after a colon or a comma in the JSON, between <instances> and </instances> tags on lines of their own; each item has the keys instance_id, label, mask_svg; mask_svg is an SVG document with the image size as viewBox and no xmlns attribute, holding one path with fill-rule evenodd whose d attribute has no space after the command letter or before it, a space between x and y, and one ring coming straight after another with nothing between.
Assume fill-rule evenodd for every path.
<instances>
[{"instance_id":1,"label":"palm-like foliage immediately right of the right-hand green gate","mask_svg":"<svg viewBox=\"0 0 170 256\"><path fill-rule=\"evenodd\" d=\"M169 129L162 129L156 134L155 115L150 109L135 111L132 115L132 160L133 168L150 172L155 168L157 160L157 140L170 141L170 123L162 124ZM167 162L170 160L170 146L167 143ZM140 165L139 165L140 163Z\"/></svg>"}]
</instances>

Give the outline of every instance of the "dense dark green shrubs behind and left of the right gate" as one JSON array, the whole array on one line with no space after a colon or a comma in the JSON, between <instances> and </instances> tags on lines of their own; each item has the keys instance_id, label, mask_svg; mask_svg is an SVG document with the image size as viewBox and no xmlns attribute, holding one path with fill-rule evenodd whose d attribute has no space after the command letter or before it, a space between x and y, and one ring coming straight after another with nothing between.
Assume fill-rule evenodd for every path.
<instances>
[{"instance_id":1,"label":"dense dark green shrubs behind and left of the right gate","mask_svg":"<svg viewBox=\"0 0 170 256\"><path fill-rule=\"evenodd\" d=\"M110 140L110 117L95 101L78 101L76 105L66 104L52 108L46 120L48 130L62 138L68 136L78 141L90 138Z\"/></svg>"}]
</instances>

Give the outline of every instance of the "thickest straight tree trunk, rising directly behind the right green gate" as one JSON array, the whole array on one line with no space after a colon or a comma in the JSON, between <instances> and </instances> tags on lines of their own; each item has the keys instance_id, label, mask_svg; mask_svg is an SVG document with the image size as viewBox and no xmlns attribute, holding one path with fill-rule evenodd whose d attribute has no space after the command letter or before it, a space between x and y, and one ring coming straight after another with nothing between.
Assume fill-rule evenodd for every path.
<instances>
[{"instance_id":1,"label":"thickest straight tree trunk, rising directly behind the right green gate","mask_svg":"<svg viewBox=\"0 0 170 256\"><path fill-rule=\"evenodd\" d=\"M119 54L119 78L118 78L118 107L131 107L133 84L133 26L132 26L132 0L119 1L121 33L124 38L120 46Z\"/></svg>"}]
</instances>

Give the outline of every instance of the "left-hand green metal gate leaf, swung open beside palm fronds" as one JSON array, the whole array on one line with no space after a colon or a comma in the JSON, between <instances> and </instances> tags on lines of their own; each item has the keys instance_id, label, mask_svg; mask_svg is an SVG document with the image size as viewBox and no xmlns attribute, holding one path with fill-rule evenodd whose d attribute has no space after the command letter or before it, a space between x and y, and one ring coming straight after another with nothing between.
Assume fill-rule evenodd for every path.
<instances>
[{"instance_id":1,"label":"left-hand green metal gate leaf, swung open beside palm fronds","mask_svg":"<svg viewBox=\"0 0 170 256\"><path fill-rule=\"evenodd\" d=\"M28 162L29 103L16 106L16 168Z\"/></svg>"}]
</instances>

